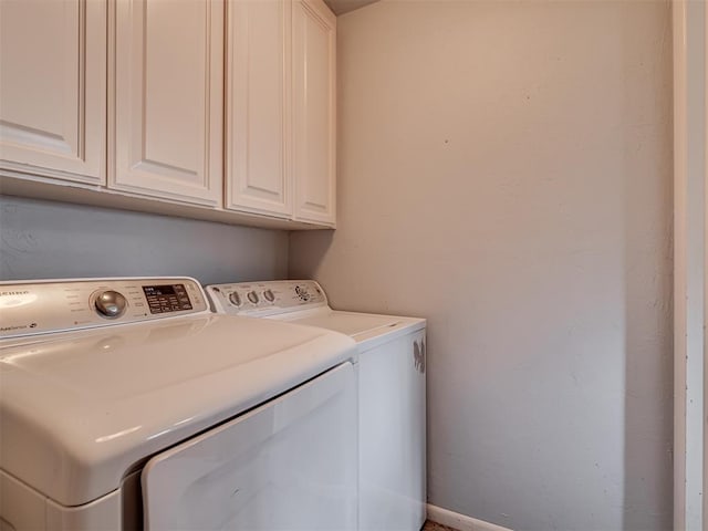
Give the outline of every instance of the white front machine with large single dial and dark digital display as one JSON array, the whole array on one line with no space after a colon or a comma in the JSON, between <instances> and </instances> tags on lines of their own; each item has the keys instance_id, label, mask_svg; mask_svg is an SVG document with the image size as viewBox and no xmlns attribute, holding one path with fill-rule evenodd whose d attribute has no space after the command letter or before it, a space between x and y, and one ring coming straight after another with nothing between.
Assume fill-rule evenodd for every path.
<instances>
[{"instance_id":1,"label":"white front machine with large single dial and dark digital display","mask_svg":"<svg viewBox=\"0 0 708 531\"><path fill-rule=\"evenodd\" d=\"M354 530L354 355L192 279L0 283L0 529Z\"/></svg>"}]
</instances>

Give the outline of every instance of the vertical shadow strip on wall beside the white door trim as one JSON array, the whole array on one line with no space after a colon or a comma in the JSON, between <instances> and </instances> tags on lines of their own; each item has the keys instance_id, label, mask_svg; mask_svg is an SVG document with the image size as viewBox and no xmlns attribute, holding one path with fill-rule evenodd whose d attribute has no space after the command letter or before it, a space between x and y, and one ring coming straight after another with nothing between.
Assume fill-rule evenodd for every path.
<instances>
[{"instance_id":1,"label":"vertical shadow strip on wall beside the white door trim","mask_svg":"<svg viewBox=\"0 0 708 531\"><path fill-rule=\"evenodd\" d=\"M666 9L670 11L670 7ZM624 84L623 105L624 119L634 128L624 145L626 530L670 529L673 520L673 159L665 155L665 146L671 143L671 107L659 107L658 123L646 127L655 102L637 97L628 88L648 80L654 85L650 93L671 92L670 24L667 15L657 45L660 72L645 63L637 67L636 58L627 53L623 58L625 75L636 77ZM623 37L625 50L632 50L627 34ZM657 225L657 220L665 222ZM650 469L649 479L646 471Z\"/></svg>"}]
</instances>

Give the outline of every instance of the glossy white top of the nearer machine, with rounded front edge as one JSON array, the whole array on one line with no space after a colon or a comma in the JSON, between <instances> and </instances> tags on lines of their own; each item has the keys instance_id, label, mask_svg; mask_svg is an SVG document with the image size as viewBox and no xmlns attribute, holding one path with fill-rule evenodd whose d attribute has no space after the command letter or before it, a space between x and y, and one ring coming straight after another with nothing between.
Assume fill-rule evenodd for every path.
<instances>
[{"instance_id":1,"label":"glossy white top of the nearer machine, with rounded front edge","mask_svg":"<svg viewBox=\"0 0 708 531\"><path fill-rule=\"evenodd\" d=\"M185 316L0 343L0 467L65 506L352 357L322 329Z\"/></svg>"}]
</instances>

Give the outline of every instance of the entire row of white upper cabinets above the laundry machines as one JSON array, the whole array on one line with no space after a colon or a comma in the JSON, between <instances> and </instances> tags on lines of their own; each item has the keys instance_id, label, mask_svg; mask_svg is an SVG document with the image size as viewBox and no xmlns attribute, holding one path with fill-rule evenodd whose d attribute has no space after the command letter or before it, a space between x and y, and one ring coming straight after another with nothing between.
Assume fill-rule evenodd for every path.
<instances>
[{"instance_id":1,"label":"entire row of white upper cabinets above the laundry machines","mask_svg":"<svg viewBox=\"0 0 708 531\"><path fill-rule=\"evenodd\" d=\"M0 9L1 192L334 226L335 18L322 0Z\"/></svg>"}]
</instances>

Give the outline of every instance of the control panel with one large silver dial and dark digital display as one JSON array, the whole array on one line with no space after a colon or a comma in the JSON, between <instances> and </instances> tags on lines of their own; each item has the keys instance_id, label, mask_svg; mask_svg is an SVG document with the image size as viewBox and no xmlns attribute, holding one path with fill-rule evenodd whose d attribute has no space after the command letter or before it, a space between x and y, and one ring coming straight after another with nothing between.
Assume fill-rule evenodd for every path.
<instances>
[{"instance_id":1,"label":"control panel with one large silver dial and dark digital display","mask_svg":"<svg viewBox=\"0 0 708 531\"><path fill-rule=\"evenodd\" d=\"M208 311L189 278L0 282L0 339Z\"/></svg>"}]
</instances>

